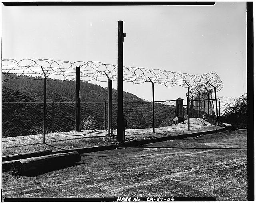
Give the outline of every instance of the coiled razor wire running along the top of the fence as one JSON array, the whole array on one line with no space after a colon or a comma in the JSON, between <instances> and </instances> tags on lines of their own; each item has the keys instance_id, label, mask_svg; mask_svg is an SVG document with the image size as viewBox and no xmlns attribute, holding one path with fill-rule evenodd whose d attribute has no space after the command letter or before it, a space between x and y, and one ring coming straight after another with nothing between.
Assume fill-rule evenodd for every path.
<instances>
[{"instance_id":1,"label":"coiled razor wire running along the top of the fence","mask_svg":"<svg viewBox=\"0 0 256 203\"><path fill-rule=\"evenodd\" d=\"M46 77L54 81L74 80L76 67L80 67L80 79L82 81L95 80L106 82L108 78L105 73L110 79L117 81L117 65L105 64L98 61L76 61L72 63L70 61L54 61L51 59L38 59L36 61L32 59L22 59L20 61L3 59L2 82L18 78L32 79L31 76L42 80L44 73L41 67L44 69ZM14 76L12 73L18 76ZM176 85L187 87L186 81L192 87L190 92L194 94L211 90L212 86L210 84L216 87L217 92L223 87L223 83L215 71L203 75L190 75L188 73L163 71L161 69L123 67L123 81L140 84L150 82L149 78L154 83L165 85L166 87Z\"/></svg>"}]
</instances>

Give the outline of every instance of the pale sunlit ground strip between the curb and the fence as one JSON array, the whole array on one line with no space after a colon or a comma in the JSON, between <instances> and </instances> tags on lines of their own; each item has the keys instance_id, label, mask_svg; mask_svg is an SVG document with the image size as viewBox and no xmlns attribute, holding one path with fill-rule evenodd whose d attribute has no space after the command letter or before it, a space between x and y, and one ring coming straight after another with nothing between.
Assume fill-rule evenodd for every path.
<instances>
[{"instance_id":1,"label":"pale sunlit ground strip between the curb and the fence","mask_svg":"<svg viewBox=\"0 0 256 203\"><path fill-rule=\"evenodd\" d=\"M127 129L126 137L129 140L145 140L160 138L164 136L177 136L181 134L190 134L194 132L205 132L209 130L221 129L222 127L214 126L201 118L190 119L190 130L188 130L187 121L184 124L156 128L153 133L152 129ZM116 130L113 130L116 135ZM46 134L46 144L42 144L41 135L10 137L2 139L2 156L34 152L38 150L51 149L67 150L82 147L102 146L117 144L115 137L109 137L106 130L84 130L82 132L61 132Z\"/></svg>"}]
</instances>

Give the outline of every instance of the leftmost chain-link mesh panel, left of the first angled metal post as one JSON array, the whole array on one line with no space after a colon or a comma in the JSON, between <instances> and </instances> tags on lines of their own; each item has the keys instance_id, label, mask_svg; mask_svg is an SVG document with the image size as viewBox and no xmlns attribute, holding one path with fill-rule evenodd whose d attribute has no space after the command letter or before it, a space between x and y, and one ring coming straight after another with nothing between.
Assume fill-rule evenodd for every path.
<instances>
[{"instance_id":1,"label":"leftmost chain-link mesh panel, left of the first angled metal post","mask_svg":"<svg viewBox=\"0 0 256 203\"><path fill-rule=\"evenodd\" d=\"M2 102L2 137L42 134L43 103Z\"/></svg>"}]
</instances>

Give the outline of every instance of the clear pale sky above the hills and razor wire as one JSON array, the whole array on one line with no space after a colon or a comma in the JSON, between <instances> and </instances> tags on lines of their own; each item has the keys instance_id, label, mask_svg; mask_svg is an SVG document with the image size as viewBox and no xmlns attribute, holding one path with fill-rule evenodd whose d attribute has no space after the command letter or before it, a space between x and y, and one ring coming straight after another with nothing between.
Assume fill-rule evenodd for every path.
<instances>
[{"instance_id":1,"label":"clear pale sky above the hills and razor wire","mask_svg":"<svg viewBox=\"0 0 256 203\"><path fill-rule=\"evenodd\" d=\"M124 66L190 75L215 71L217 96L247 91L246 2L213 6L3 6L2 59L100 61L117 65L123 20ZM107 83L100 83L107 87ZM113 81L113 88L117 88ZM151 83L124 91L152 101ZM155 85L155 101L186 98L186 88Z\"/></svg>"}]
</instances>

